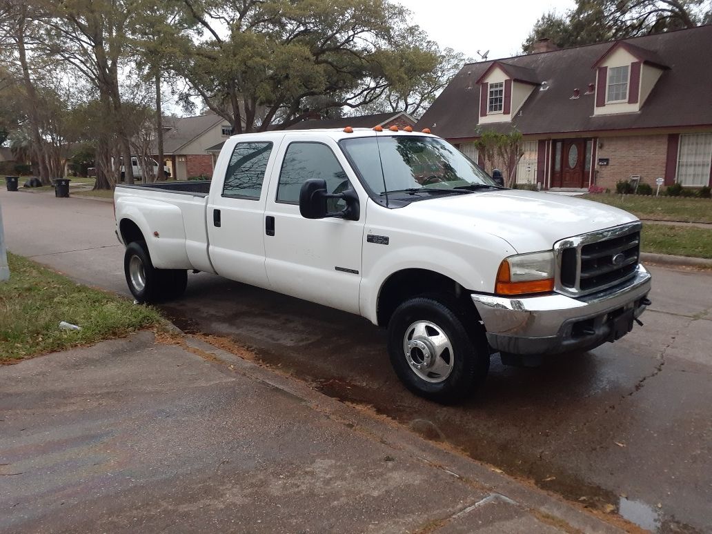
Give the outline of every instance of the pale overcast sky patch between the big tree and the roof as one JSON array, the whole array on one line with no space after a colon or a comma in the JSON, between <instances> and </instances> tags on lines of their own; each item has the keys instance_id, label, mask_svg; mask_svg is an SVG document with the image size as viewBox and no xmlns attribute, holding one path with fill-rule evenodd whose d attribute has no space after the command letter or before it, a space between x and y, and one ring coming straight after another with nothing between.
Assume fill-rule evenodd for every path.
<instances>
[{"instance_id":1,"label":"pale overcast sky patch between the big tree and the roof","mask_svg":"<svg viewBox=\"0 0 712 534\"><path fill-rule=\"evenodd\" d=\"M454 48L479 59L520 53L536 20L546 11L563 13L574 0L394 0L413 13L412 21L441 48Z\"/></svg>"}]
</instances>

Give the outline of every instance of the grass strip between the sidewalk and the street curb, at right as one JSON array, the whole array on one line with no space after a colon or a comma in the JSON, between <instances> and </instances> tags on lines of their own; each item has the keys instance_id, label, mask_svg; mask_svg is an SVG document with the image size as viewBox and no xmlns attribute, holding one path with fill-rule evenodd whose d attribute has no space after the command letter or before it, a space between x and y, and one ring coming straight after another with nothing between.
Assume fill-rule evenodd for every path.
<instances>
[{"instance_id":1,"label":"grass strip between the sidewalk and the street curb, at right","mask_svg":"<svg viewBox=\"0 0 712 534\"><path fill-rule=\"evenodd\" d=\"M668 224L645 224L641 251L712 259L712 230Z\"/></svg>"}]
</instances>

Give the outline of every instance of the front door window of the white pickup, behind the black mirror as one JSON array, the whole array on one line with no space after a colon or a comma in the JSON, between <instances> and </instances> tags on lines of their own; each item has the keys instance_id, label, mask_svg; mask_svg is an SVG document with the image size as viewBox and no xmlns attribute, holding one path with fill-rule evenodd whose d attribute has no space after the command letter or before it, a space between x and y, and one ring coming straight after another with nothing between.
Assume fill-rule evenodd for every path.
<instances>
[{"instance_id":1,"label":"front door window of the white pickup, behind the black mirror","mask_svg":"<svg viewBox=\"0 0 712 534\"><path fill-rule=\"evenodd\" d=\"M326 180L329 193L344 192L349 186L344 169L328 146L314 142L293 142L284 155L277 187L277 201L298 204L302 184L310 178ZM344 207L341 200L334 204L329 206L330 211Z\"/></svg>"}]
</instances>

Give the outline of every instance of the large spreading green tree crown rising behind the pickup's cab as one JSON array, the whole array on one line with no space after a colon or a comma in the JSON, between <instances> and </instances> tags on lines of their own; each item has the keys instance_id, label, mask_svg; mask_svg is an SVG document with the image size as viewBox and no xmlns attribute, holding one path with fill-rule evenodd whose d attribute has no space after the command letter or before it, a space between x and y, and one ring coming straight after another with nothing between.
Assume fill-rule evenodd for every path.
<instances>
[{"instance_id":1,"label":"large spreading green tree crown rising behind the pickup's cab","mask_svg":"<svg viewBox=\"0 0 712 534\"><path fill-rule=\"evenodd\" d=\"M199 38L179 36L172 69L236 133L362 108L438 64L433 51L409 38L406 11L382 0L183 4Z\"/></svg>"}]
</instances>

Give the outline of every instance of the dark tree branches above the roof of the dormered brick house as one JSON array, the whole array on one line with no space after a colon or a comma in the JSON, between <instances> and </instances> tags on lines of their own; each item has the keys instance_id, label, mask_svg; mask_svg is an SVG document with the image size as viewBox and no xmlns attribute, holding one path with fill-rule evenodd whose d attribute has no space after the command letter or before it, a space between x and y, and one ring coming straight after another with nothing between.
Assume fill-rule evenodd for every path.
<instances>
[{"instance_id":1,"label":"dark tree branches above the roof of the dormered brick house","mask_svg":"<svg viewBox=\"0 0 712 534\"><path fill-rule=\"evenodd\" d=\"M577 0L564 14L543 14L522 48L531 52L540 38L565 48L693 28L711 16L711 0Z\"/></svg>"}]
</instances>

